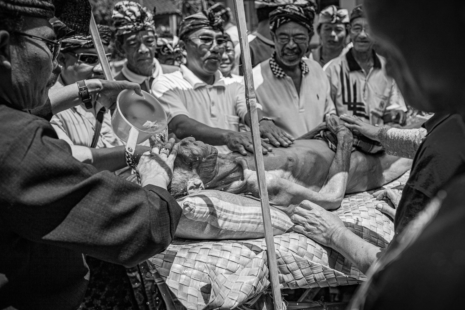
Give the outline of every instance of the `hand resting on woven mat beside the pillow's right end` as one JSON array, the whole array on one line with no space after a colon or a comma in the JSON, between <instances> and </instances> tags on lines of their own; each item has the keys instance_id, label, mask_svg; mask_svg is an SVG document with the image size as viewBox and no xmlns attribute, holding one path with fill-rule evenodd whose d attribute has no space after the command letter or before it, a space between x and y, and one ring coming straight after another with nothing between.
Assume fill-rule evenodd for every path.
<instances>
[{"instance_id":1,"label":"hand resting on woven mat beside the pillow's right end","mask_svg":"<svg viewBox=\"0 0 465 310\"><path fill-rule=\"evenodd\" d=\"M295 224L292 226L294 231L330 247L337 243L339 233L346 229L335 213L326 211L308 200L302 201L294 208L291 220Z\"/></svg>"}]
</instances>

